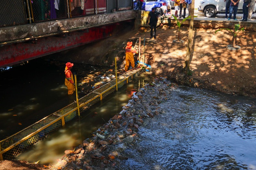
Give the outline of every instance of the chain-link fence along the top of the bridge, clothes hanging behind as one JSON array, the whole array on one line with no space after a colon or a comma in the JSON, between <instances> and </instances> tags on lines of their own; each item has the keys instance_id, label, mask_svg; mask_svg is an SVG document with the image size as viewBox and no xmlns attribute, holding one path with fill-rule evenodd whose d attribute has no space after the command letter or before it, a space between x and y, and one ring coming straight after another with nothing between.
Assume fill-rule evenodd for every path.
<instances>
[{"instance_id":1,"label":"chain-link fence along the top of the bridge, clothes hanging behind","mask_svg":"<svg viewBox=\"0 0 256 170\"><path fill-rule=\"evenodd\" d=\"M132 0L8 0L2 5L0 27L5 27L132 9Z\"/></svg>"}]
</instances>

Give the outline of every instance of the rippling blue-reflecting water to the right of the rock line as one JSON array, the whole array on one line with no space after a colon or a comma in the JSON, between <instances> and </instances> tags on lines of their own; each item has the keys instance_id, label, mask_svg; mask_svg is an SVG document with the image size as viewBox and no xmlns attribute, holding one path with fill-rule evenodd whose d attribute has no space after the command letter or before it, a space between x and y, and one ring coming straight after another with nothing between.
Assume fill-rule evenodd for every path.
<instances>
[{"instance_id":1,"label":"rippling blue-reflecting water to the right of the rock line","mask_svg":"<svg viewBox=\"0 0 256 170\"><path fill-rule=\"evenodd\" d=\"M256 102L178 88L117 169L256 169Z\"/></svg>"}]
</instances>

